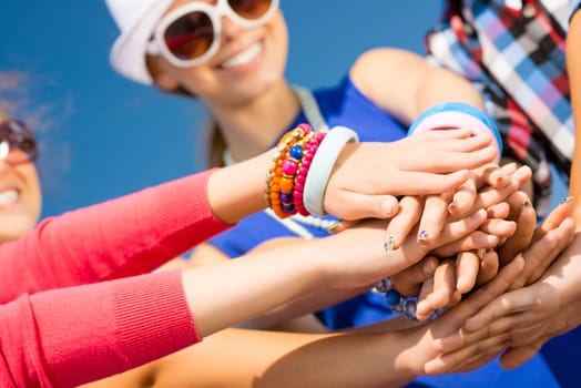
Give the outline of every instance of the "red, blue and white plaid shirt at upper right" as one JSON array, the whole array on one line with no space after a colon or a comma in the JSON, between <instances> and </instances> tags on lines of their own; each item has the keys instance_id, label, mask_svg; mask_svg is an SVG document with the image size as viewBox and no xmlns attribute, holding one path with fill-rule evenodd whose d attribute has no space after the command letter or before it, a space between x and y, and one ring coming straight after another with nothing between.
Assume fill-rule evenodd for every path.
<instances>
[{"instance_id":1,"label":"red, blue and white plaid shirt at upper right","mask_svg":"<svg viewBox=\"0 0 581 388\"><path fill-rule=\"evenodd\" d=\"M533 171L547 210L549 162L568 180L573 116L564 40L581 0L448 0L426 44L430 60L472 81L497 119L507 156Z\"/></svg>"}]
</instances>

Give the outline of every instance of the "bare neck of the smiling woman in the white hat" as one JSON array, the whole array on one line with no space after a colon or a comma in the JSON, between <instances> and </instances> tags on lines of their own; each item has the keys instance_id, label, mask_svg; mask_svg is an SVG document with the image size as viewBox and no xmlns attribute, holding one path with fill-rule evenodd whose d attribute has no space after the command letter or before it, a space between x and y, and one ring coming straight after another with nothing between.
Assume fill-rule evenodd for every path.
<instances>
[{"instance_id":1,"label":"bare neck of the smiling woman in the white hat","mask_svg":"<svg viewBox=\"0 0 581 388\"><path fill-rule=\"evenodd\" d=\"M265 152L296 118L300 103L281 82L252 101L236 106L211 106L235 161Z\"/></svg>"}]
</instances>

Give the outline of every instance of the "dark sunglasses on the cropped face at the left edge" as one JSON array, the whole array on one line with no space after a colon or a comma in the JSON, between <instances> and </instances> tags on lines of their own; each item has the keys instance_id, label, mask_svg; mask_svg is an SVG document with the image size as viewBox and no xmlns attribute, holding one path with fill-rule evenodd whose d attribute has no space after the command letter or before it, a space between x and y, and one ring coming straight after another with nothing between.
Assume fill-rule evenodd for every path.
<instances>
[{"instance_id":1,"label":"dark sunglasses on the cropped face at the left edge","mask_svg":"<svg viewBox=\"0 0 581 388\"><path fill-rule=\"evenodd\" d=\"M19 120L0 122L0 160L10 164L34 162L39 156L30 127Z\"/></svg>"}]
</instances>

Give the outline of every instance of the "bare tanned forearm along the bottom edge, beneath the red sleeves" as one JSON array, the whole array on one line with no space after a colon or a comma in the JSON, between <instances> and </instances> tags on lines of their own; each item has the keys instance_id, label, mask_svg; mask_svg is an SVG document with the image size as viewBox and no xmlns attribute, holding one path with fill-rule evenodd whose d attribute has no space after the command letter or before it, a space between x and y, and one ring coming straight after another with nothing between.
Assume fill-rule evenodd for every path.
<instances>
[{"instance_id":1,"label":"bare tanned forearm along the bottom edge, beneath the red sleeves","mask_svg":"<svg viewBox=\"0 0 581 388\"><path fill-rule=\"evenodd\" d=\"M159 361L85 388L400 387L393 334L307 335L226 329ZM227 349L227 351L226 351ZM227 368L224 366L227 365ZM404 379L408 379L405 374Z\"/></svg>"}]
</instances>

